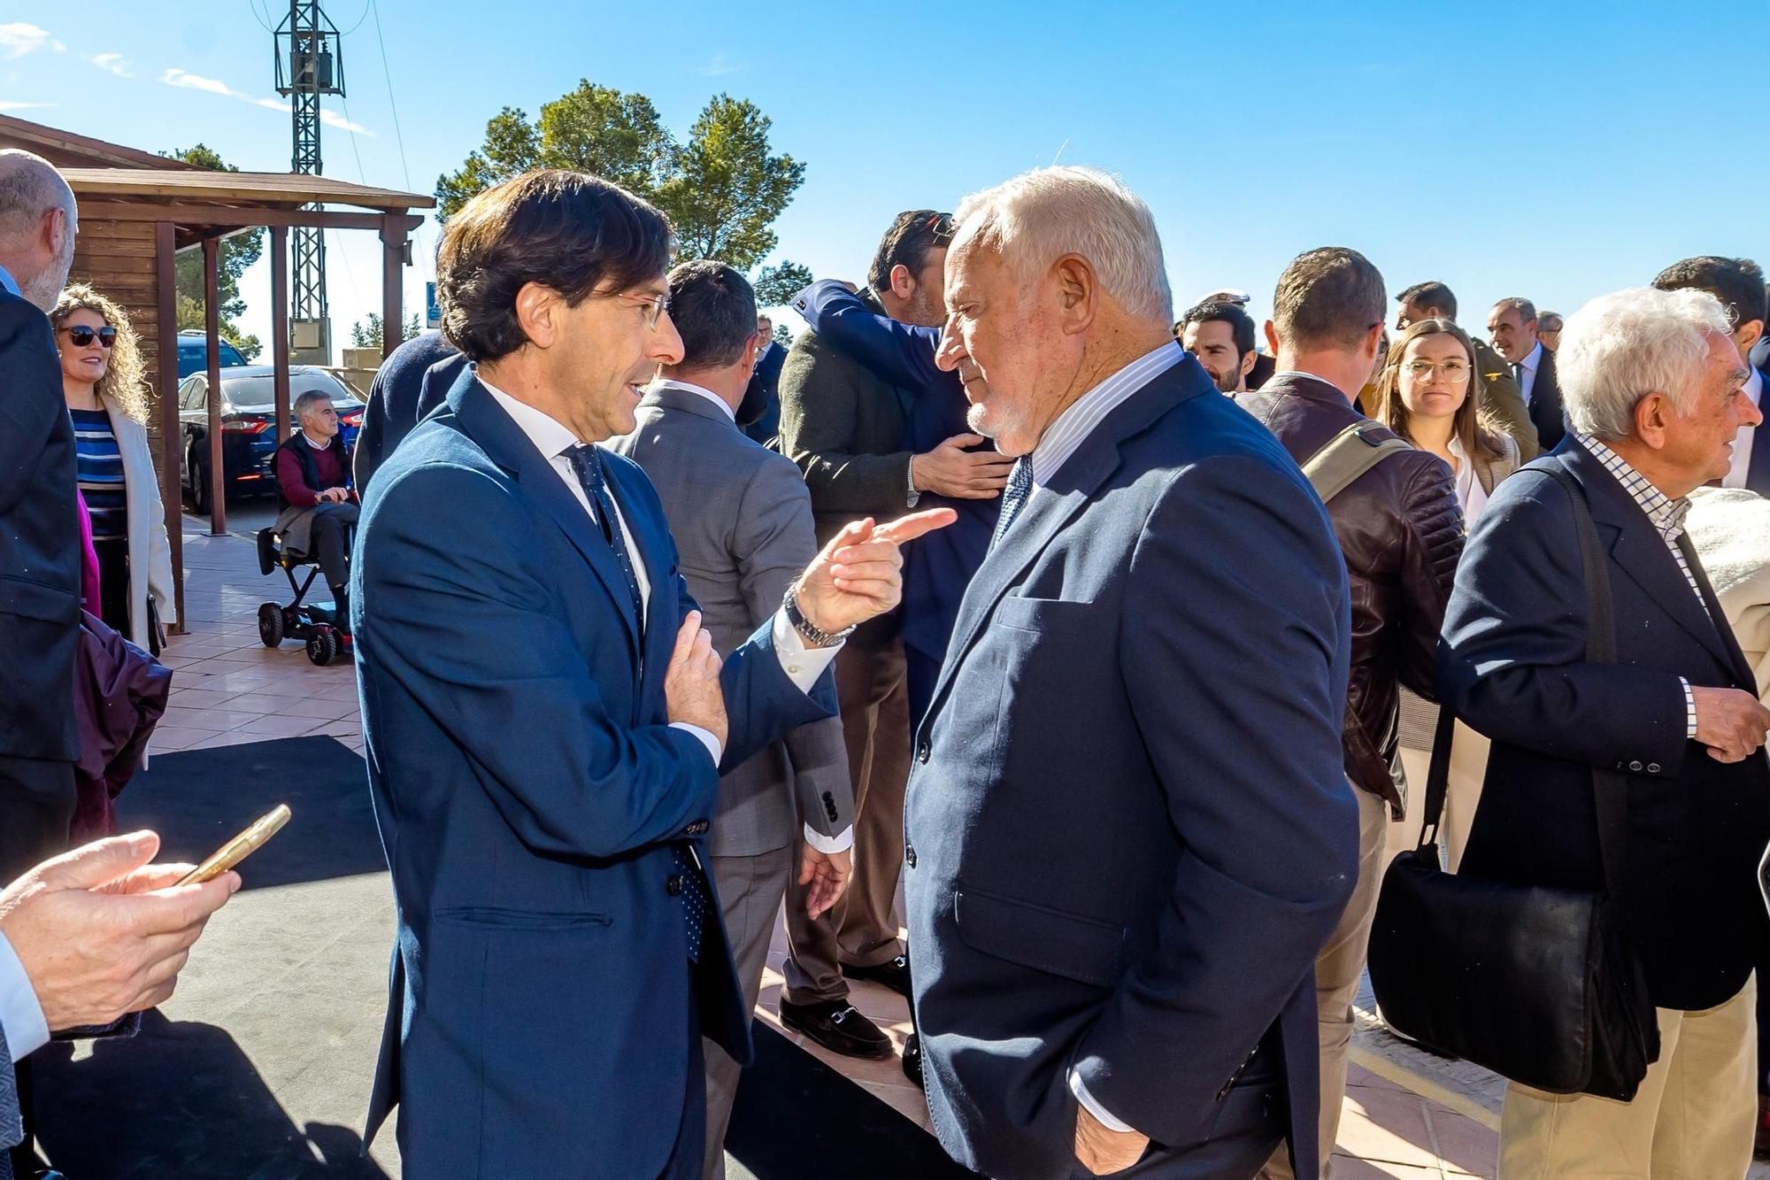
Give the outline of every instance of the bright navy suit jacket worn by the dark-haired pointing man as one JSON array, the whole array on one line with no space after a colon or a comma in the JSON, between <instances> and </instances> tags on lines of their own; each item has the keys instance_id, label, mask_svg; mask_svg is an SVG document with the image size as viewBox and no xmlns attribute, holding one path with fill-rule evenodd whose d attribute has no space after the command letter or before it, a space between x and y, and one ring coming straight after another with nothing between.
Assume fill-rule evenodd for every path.
<instances>
[{"instance_id":1,"label":"bright navy suit jacket worn by the dark-haired pointing man","mask_svg":"<svg viewBox=\"0 0 1770 1180\"><path fill-rule=\"evenodd\" d=\"M643 634L595 521L473 370L363 503L350 601L398 905L366 1137L398 1102L412 1176L655 1176L704 1100L696 1010L749 1060L719 902L690 971L671 850L701 843L719 783L666 725L694 602L650 480L607 468ZM802 693L766 627L722 682L727 767L835 712L834 677Z\"/></svg>"}]
</instances>

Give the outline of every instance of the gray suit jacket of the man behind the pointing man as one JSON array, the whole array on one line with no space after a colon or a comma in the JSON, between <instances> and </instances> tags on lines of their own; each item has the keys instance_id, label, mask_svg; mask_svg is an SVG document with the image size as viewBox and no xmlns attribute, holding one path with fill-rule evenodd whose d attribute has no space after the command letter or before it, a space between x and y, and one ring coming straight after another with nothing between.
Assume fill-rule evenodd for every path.
<instances>
[{"instance_id":1,"label":"gray suit jacket of the man behind the pointing man","mask_svg":"<svg viewBox=\"0 0 1770 1180\"><path fill-rule=\"evenodd\" d=\"M655 386L637 416L639 427L609 446L651 477L681 576L713 647L729 652L781 609L786 588L818 555L811 496L789 459L745 438L699 393ZM843 723L828 718L719 780L708 849L761 856L793 845L800 822L834 836L853 815Z\"/></svg>"}]
</instances>

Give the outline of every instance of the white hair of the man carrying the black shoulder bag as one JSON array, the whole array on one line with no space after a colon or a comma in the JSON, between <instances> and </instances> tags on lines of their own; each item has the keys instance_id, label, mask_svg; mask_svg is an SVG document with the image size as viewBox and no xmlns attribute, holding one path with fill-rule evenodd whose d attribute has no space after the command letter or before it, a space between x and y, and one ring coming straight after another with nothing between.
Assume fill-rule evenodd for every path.
<instances>
[{"instance_id":1,"label":"white hair of the man carrying the black shoulder bag","mask_svg":"<svg viewBox=\"0 0 1770 1180\"><path fill-rule=\"evenodd\" d=\"M1664 393L1690 413L1708 363L1710 337L1731 337L1728 312L1706 291L1628 287L1598 296L1566 317L1556 376L1566 416L1581 434L1628 438L1635 406Z\"/></svg>"}]
</instances>

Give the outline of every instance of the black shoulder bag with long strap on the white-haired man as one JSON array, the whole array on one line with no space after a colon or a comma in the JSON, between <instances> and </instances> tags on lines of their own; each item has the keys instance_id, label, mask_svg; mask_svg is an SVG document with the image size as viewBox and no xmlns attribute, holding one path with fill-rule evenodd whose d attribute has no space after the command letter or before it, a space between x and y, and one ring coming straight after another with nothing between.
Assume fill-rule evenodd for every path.
<instances>
[{"instance_id":1,"label":"black shoulder bag with long strap on the white-haired man","mask_svg":"<svg viewBox=\"0 0 1770 1180\"><path fill-rule=\"evenodd\" d=\"M1611 583L1586 493L1574 501L1591 620L1586 659L1616 661ZM1658 1019L1623 909L1627 781L1593 769L1604 888L1597 893L1478 881L1439 868L1453 718L1439 710L1420 845L1382 877L1370 983L1404 1036L1549 1093L1630 1100L1658 1060Z\"/></svg>"}]
</instances>

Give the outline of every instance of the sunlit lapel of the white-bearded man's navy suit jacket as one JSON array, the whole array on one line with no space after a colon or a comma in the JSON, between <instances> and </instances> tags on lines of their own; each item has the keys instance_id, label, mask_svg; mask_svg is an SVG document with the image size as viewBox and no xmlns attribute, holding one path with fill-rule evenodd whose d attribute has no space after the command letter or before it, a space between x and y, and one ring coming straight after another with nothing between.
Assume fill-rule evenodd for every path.
<instances>
[{"instance_id":1,"label":"sunlit lapel of the white-bearded man's navy suit jacket","mask_svg":"<svg viewBox=\"0 0 1770 1180\"><path fill-rule=\"evenodd\" d=\"M989 549L989 556L984 558L965 590L959 617L952 627L952 641L947 645L947 659L940 668L940 679L935 682L935 695L922 721L924 726L940 712L959 663L977 641L989 615L995 613L997 602L1050 547L1051 540L1080 516L1101 484L1119 470L1119 446L1145 431L1174 406L1198 397L1197 383L1188 384L1182 376L1202 377L1202 374L1204 370L1195 372L1193 365L1181 363L1154 377L1094 427L1094 432L1064 462L1050 484L1034 489L1032 500L1021 508L1002 540ZM1204 388L1214 392L1209 383Z\"/></svg>"}]
</instances>

